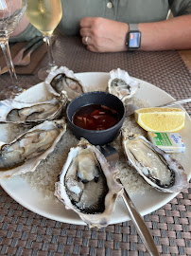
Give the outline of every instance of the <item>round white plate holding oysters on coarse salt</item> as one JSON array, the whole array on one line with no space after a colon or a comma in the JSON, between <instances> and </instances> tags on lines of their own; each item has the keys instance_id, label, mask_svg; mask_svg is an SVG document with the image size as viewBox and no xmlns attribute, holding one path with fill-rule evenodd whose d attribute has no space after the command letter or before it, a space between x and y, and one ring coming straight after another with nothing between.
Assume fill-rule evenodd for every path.
<instances>
[{"instance_id":1,"label":"round white plate holding oysters on coarse salt","mask_svg":"<svg viewBox=\"0 0 191 256\"><path fill-rule=\"evenodd\" d=\"M107 82L109 80L108 73L78 73L76 74L78 79L85 85L89 85L90 90L105 90ZM160 88L141 80L141 88L136 94L139 99L147 100L151 106L158 105L160 103L169 102L174 100L169 94ZM91 85L90 85L91 84ZM92 88L91 88L92 86ZM93 88L94 87L94 88ZM39 101L42 96L46 93L43 82L39 83L30 89L26 90L25 93L18 97L18 100L22 101ZM6 131L3 126L0 126L0 140L6 137ZM184 167L185 172L188 176L191 176L190 172L190 153L191 153L191 122L189 116L186 114L185 127L180 132L182 140L185 144L186 151L182 154L181 163ZM0 182L3 189L9 193L9 195L22 206L28 210L32 210L44 217L53 219L56 221L71 223L76 225L84 225L84 222L79 219L78 214L72 210L65 210L64 206L56 199L44 199L43 194L35 189L31 189L26 183L26 180L20 176L13 176L9 179L2 180ZM163 207L171 199L173 199L177 193L163 193L157 192L154 189L151 192L146 192L142 196L139 194L133 194L131 199L135 206L140 211L141 215L144 216L153 210L157 210ZM130 220L128 211L122 201L117 201L111 224L120 223Z\"/></svg>"}]
</instances>

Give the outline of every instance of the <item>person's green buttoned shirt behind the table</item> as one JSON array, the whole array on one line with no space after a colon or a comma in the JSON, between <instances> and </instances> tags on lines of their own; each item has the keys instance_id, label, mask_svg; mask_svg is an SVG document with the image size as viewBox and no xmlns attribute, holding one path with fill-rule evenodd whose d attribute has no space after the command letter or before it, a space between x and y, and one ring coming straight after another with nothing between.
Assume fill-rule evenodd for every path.
<instances>
[{"instance_id":1,"label":"person's green buttoned shirt behind the table","mask_svg":"<svg viewBox=\"0 0 191 256\"><path fill-rule=\"evenodd\" d=\"M191 0L61 0L59 29L66 35L78 35L83 17L104 17L124 23L163 21L171 9L174 16L191 14ZM29 25L11 42L30 40L40 32Z\"/></svg>"}]
</instances>

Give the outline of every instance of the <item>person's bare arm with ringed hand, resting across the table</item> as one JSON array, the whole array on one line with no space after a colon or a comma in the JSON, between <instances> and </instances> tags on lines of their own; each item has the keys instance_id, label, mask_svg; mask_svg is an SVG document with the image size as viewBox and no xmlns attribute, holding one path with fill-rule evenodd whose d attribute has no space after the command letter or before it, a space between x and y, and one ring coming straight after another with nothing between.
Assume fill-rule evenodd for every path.
<instances>
[{"instance_id":1,"label":"person's bare arm with ringed hand, resting across the table","mask_svg":"<svg viewBox=\"0 0 191 256\"><path fill-rule=\"evenodd\" d=\"M141 50L169 50L191 48L191 15L182 15L169 20L140 23ZM125 51L129 26L99 17L87 17L80 21L82 43L95 52Z\"/></svg>"}]
</instances>

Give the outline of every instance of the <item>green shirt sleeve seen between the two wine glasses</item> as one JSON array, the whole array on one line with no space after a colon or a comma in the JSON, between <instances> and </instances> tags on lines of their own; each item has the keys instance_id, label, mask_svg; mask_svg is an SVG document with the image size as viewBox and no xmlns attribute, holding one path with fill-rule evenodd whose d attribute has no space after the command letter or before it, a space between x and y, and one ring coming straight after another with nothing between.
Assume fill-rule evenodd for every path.
<instances>
[{"instance_id":1,"label":"green shirt sleeve seen between the two wine glasses","mask_svg":"<svg viewBox=\"0 0 191 256\"><path fill-rule=\"evenodd\" d=\"M10 37L9 42L16 43L16 42L29 41L36 36L42 36L42 33L36 27L29 24L21 34L15 37Z\"/></svg>"}]
</instances>

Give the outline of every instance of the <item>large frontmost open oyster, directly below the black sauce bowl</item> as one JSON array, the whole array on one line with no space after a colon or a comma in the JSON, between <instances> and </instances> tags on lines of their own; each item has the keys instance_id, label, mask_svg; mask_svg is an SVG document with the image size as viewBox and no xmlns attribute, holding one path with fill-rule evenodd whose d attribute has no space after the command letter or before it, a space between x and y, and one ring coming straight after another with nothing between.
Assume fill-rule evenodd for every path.
<instances>
[{"instance_id":1,"label":"large frontmost open oyster, directly below the black sauce bowl","mask_svg":"<svg viewBox=\"0 0 191 256\"><path fill-rule=\"evenodd\" d=\"M109 165L95 146L82 138L71 148L55 184L55 195L67 210L75 210L90 228L106 227L114 203L122 192L118 170Z\"/></svg>"}]
</instances>

